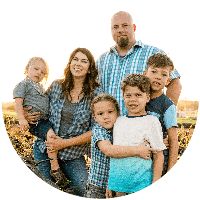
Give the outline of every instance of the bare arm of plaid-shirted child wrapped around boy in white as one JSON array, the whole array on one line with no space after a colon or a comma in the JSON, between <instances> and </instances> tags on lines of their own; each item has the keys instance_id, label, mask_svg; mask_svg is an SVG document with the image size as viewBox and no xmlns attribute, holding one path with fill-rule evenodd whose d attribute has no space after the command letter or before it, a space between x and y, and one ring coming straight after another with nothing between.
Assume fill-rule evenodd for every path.
<instances>
[{"instance_id":1,"label":"bare arm of plaid-shirted child wrapped around boy in white","mask_svg":"<svg viewBox=\"0 0 200 200\"><path fill-rule=\"evenodd\" d=\"M149 159L151 155L151 148L145 145L141 146L119 146L113 145L108 140L102 140L97 143L99 149L108 157L124 158L137 156L144 159Z\"/></svg>"}]
</instances>

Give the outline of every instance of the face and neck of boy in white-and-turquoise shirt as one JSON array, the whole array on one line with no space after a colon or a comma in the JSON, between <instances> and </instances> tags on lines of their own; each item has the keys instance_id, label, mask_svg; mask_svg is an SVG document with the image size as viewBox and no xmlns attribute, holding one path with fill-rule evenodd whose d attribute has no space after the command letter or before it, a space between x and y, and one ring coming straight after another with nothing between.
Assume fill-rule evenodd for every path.
<instances>
[{"instance_id":1,"label":"face and neck of boy in white-and-turquoise shirt","mask_svg":"<svg viewBox=\"0 0 200 200\"><path fill-rule=\"evenodd\" d=\"M137 86L132 87L127 85L123 96L129 116L146 115L145 106L149 101L147 93L142 92Z\"/></svg>"}]
</instances>

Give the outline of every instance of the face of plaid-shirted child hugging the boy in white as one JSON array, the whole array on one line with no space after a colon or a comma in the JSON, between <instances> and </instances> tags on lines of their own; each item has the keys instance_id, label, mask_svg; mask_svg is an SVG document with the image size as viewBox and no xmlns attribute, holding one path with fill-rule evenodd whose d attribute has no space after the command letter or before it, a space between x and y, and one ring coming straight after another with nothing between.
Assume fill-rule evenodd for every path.
<instances>
[{"instance_id":1,"label":"face of plaid-shirted child hugging the boy in white","mask_svg":"<svg viewBox=\"0 0 200 200\"><path fill-rule=\"evenodd\" d=\"M111 129L118 117L117 109L111 101L99 101L93 107L94 120L106 129Z\"/></svg>"}]
</instances>

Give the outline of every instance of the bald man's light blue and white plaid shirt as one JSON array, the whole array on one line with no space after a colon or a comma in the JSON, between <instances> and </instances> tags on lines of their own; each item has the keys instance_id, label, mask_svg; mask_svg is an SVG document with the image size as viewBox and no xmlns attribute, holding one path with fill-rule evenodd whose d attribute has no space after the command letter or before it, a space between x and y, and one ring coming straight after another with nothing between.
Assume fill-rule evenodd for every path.
<instances>
[{"instance_id":1,"label":"bald man's light blue and white plaid shirt","mask_svg":"<svg viewBox=\"0 0 200 200\"><path fill-rule=\"evenodd\" d=\"M118 100L122 115L126 115L127 111L121 92L121 81L128 74L143 74L148 58L158 52L163 51L137 41L124 57L120 57L115 47L112 47L97 60L102 89ZM179 77L176 70L171 73L171 79Z\"/></svg>"}]
</instances>

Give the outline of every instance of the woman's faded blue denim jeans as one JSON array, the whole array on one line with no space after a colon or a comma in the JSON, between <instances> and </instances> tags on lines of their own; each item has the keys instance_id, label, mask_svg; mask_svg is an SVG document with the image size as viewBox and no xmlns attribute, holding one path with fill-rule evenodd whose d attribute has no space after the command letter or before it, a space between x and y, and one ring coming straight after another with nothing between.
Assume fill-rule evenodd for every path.
<instances>
[{"instance_id":1,"label":"woman's faded blue denim jeans","mask_svg":"<svg viewBox=\"0 0 200 200\"><path fill-rule=\"evenodd\" d=\"M42 153L37 144L33 146L33 155L36 161L48 159L47 153ZM82 156L74 160L59 160L59 165L65 176L71 181L70 186L73 188L75 195L84 196L88 178L85 158ZM38 165L38 170L45 179L52 180L49 160L41 162Z\"/></svg>"}]
</instances>

